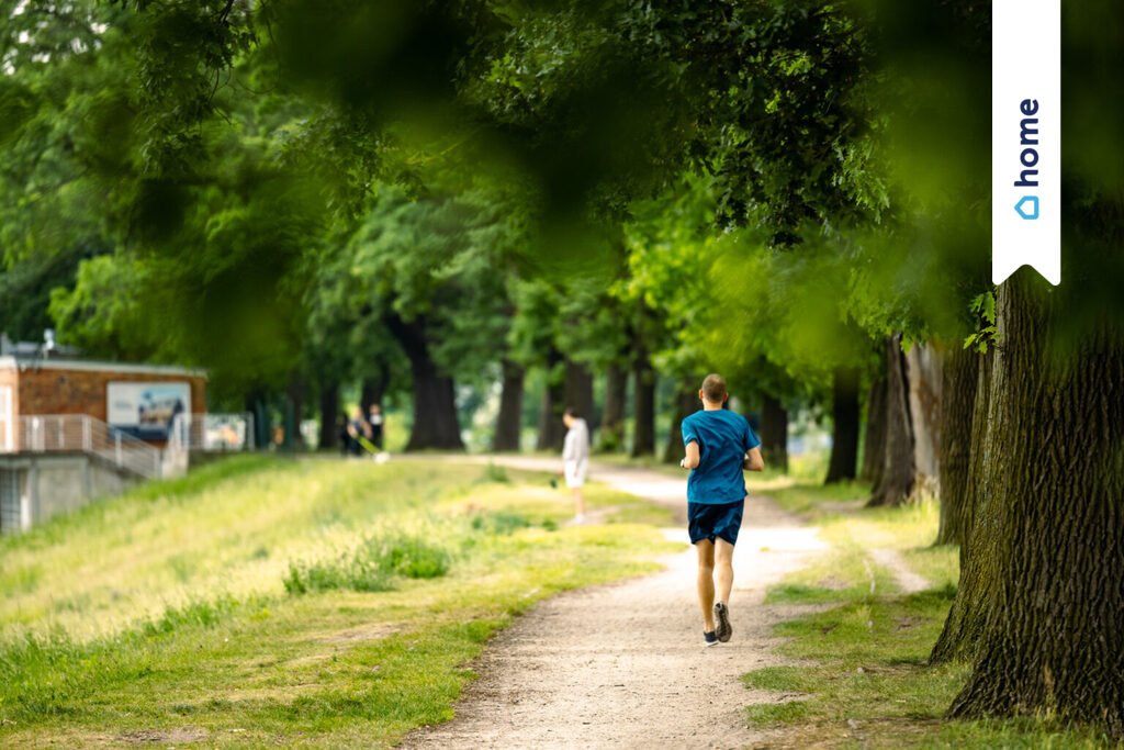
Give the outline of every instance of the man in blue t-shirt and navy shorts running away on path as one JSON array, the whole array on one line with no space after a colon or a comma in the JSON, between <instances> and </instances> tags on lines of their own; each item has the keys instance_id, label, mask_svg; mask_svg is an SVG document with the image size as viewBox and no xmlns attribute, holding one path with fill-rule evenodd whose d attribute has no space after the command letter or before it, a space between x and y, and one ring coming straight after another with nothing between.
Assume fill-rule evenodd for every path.
<instances>
[{"instance_id":1,"label":"man in blue t-shirt and navy shorts running away on path","mask_svg":"<svg viewBox=\"0 0 1124 750\"><path fill-rule=\"evenodd\" d=\"M687 530L699 555L703 640L706 645L715 645L728 641L733 633L729 591L734 587L734 544L745 509L742 471L761 471L765 462L761 458L761 441L753 434L750 423L723 408L729 394L720 376L706 377L699 398L703 410L683 419L687 458L679 466L691 469L687 480ZM717 602L715 567L718 569Z\"/></svg>"}]
</instances>

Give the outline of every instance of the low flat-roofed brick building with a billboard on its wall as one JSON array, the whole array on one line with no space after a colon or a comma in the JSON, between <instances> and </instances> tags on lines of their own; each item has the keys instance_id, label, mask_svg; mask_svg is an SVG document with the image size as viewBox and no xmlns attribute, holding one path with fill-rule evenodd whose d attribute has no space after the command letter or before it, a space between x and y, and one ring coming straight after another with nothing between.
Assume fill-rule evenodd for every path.
<instances>
[{"instance_id":1,"label":"low flat-roofed brick building with a billboard on its wall","mask_svg":"<svg viewBox=\"0 0 1124 750\"><path fill-rule=\"evenodd\" d=\"M0 451L21 450L20 417L82 414L162 443L175 414L206 412L207 374L201 370L0 356Z\"/></svg>"}]
</instances>

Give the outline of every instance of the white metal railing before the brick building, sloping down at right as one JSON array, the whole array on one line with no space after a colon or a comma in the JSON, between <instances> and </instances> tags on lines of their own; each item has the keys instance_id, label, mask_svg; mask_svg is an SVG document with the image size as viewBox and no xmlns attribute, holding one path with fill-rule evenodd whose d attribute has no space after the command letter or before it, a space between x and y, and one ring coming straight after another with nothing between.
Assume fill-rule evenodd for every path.
<instances>
[{"instance_id":1,"label":"white metal railing before the brick building, sloping down at right","mask_svg":"<svg viewBox=\"0 0 1124 750\"><path fill-rule=\"evenodd\" d=\"M160 449L84 414L20 417L15 449L90 453L145 479L163 476Z\"/></svg>"}]
</instances>

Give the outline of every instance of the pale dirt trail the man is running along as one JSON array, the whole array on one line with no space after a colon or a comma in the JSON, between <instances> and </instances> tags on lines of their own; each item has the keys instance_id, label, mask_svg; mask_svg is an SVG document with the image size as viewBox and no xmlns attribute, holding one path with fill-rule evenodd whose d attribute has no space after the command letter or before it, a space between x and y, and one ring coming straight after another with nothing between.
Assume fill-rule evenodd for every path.
<instances>
[{"instance_id":1,"label":"pale dirt trail the man is running along","mask_svg":"<svg viewBox=\"0 0 1124 750\"><path fill-rule=\"evenodd\" d=\"M483 461L487 461L484 459ZM555 469L538 459L513 468ZM540 466L540 463L549 467ZM686 481L655 471L593 466L591 479L682 508ZM735 553L734 638L703 648L695 551L667 558L664 572L549 599L497 636L474 665L456 717L406 738L409 748L741 748L752 732L743 708L778 696L745 689L740 676L779 663L773 623L797 612L765 607L765 588L824 549L816 530L754 497ZM668 532L687 541L686 531Z\"/></svg>"}]
</instances>

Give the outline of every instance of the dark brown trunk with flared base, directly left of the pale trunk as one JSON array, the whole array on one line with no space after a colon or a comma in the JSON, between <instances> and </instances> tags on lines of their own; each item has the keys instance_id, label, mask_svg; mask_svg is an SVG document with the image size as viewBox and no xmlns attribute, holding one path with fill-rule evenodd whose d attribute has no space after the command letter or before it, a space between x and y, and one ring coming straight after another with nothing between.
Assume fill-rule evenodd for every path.
<instances>
[{"instance_id":1,"label":"dark brown trunk with flared base, directly left of the pale trunk","mask_svg":"<svg viewBox=\"0 0 1124 750\"><path fill-rule=\"evenodd\" d=\"M913 494L916 475L909 382L900 334L886 340L886 450L882 451L882 477L874 487L868 506L901 505Z\"/></svg>"}]
</instances>

